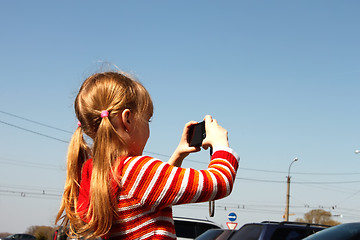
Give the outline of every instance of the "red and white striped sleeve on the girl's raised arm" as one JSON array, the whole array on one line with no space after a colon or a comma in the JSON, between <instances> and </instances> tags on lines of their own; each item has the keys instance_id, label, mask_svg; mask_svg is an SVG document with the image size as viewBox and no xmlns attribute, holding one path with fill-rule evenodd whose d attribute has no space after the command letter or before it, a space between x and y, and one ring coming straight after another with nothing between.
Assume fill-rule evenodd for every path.
<instances>
[{"instance_id":1,"label":"red and white striped sleeve on the girl's raised arm","mask_svg":"<svg viewBox=\"0 0 360 240\"><path fill-rule=\"evenodd\" d=\"M228 196L233 188L239 157L230 148L214 149L206 170L179 168L150 157L125 163L122 191L154 209L205 202Z\"/></svg>"}]
</instances>

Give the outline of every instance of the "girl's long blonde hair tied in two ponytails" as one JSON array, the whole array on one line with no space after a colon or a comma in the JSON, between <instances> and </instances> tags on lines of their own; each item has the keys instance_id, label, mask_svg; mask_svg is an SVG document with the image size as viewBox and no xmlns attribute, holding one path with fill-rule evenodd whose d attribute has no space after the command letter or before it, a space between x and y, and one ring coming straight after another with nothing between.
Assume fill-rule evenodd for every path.
<instances>
[{"instance_id":1,"label":"girl's long blonde hair tied in two ponytails","mask_svg":"<svg viewBox=\"0 0 360 240\"><path fill-rule=\"evenodd\" d=\"M115 160L128 154L126 143L114 127L115 116L124 109L130 109L137 117L153 113L147 90L125 73L103 72L90 76L75 99L75 113L81 127L69 144L64 195L56 217L56 222L62 219L62 225L69 228L71 235L86 238L105 235L116 217L116 199L111 194L109 180L112 177L119 184ZM109 116L102 118L104 110ZM92 147L84 141L83 133L93 140ZM81 170L90 157L93 159L90 205L86 213L79 213ZM88 221L84 222L81 217Z\"/></svg>"}]
</instances>

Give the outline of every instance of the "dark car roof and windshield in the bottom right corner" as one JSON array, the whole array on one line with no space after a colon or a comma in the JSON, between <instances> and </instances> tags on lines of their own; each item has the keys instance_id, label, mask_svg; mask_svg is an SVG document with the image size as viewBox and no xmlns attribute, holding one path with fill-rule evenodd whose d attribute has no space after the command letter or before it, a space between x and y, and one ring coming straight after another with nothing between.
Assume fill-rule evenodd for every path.
<instances>
[{"instance_id":1,"label":"dark car roof and windshield in the bottom right corner","mask_svg":"<svg viewBox=\"0 0 360 240\"><path fill-rule=\"evenodd\" d=\"M360 222L343 223L324 231L315 233L304 240L358 240L360 239Z\"/></svg>"}]
</instances>

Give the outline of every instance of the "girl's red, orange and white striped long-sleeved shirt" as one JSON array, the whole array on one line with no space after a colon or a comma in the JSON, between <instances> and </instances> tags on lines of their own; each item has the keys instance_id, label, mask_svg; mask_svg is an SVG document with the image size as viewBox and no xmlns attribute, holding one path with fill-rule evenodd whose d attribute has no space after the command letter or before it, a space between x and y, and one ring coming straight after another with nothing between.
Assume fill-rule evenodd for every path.
<instances>
[{"instance_id":1,"label":"girl's red, orange and white striped long-sleeved shirt","mask_svg":"<svg viewBox=\"0 0 360 240\"><path fill-rule=\"evenodd\" d=\"M148 156L128 157L119 170L117 214L111 239L176 239L172 205L206 202L230 194L239 157L214 149L207 170L179 168ZM92 162L85 163L79 205L88 206ZM84 209L81 209L84 210Z\"/></svg>"}]
</instances>

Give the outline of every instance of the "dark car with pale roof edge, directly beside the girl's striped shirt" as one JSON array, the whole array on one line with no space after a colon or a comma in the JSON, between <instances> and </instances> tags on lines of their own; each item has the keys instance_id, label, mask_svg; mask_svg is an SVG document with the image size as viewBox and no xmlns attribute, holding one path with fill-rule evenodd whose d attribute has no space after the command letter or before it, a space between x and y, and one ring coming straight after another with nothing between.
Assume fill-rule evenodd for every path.
<instances>
[{"instance_id":1,"label":"dark car with pale roof edge, directly beside the girl's striped shirt","mask_svg":"<svg viewBox=\"0 0 360 240\"><path fill-rule=\"evenodd\" d=\"M195 239L209 229L221 228L218 224L209 220L184 217L174 217L173 219L178 240Z\"/></svg>"}]
</instances>

